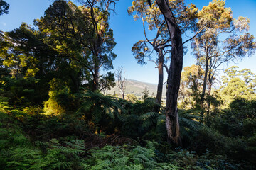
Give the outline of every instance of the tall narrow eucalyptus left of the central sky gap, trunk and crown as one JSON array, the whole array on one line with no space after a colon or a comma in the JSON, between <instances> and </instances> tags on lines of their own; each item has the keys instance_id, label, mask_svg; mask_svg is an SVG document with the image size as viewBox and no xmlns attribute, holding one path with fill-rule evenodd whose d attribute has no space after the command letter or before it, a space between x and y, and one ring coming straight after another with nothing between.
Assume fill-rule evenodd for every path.
<instances>
[{"instance_id":1,"label":"tall narrow eucalyptus left of the central sky gap, trunk and crown","mask_svg":"<svg viewBox=\"0 0 256 170\"><path fill-rule=\"evenodd\" d=\"M119 0L80 0L87 8L93 28L93 39L90 42L90 51L93 58L93 86L92 91L99 88L100 67L112 69L112 60L117 55L112 52L116 43L113 38L113 30L109 28L110 12Z\"/></svg>"}]
</instances>

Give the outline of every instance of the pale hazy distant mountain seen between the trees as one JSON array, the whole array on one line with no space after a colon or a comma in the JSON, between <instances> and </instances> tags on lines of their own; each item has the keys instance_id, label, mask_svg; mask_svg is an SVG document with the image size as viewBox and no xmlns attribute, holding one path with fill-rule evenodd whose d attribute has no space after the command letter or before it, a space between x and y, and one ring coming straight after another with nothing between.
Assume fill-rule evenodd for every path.
<instances>
[{"instance_id":1,"label":"pale hazy distant mountain seen between the trees","mask_svg":"<svg viewBox=\"0 0 256 170\"><path fill-rule=\"evenodd\" d=\"M157 84L150 84L150 83L145 83L142 81L137 81L137 80L132 80L132 79L127 79L126 83L126 90L125 94L134 94L137 96L137 98L140 98L142 96L142 92L144 89L149 90L149 96L156 96L156 91L157 91ZM163 88L163 94L165 94L166 91L166 85L164 85ZM117 86L114 86L110 91L108 91L108 94L120 94L120 91ZM163 99L165 98L165 95L163 95Z\"/></svg>"}]
</instances>

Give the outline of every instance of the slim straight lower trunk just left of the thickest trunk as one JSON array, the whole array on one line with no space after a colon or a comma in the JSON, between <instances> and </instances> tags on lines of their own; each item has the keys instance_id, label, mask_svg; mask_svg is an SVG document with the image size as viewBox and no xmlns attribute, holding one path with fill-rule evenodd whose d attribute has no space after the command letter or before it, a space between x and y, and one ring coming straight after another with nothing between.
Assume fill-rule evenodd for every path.
<instances>
[{"instance_id":1,"label":"slim straight lower trunk just left of the thickest trunk","mask_svg":"<svg viewBox=\"0 0 256 170\"><path fill-rule=\"evenodd\" d=\"M158 62L158 70L159 70L159 82L157 84L157 93L156 93L156 103L157 105L154 108L155 112L159 112L161 108L161 97L163 94L163 83L164 83L164 54L162 50L159 52L159 62Z\"/></svg>"}]
</instances>

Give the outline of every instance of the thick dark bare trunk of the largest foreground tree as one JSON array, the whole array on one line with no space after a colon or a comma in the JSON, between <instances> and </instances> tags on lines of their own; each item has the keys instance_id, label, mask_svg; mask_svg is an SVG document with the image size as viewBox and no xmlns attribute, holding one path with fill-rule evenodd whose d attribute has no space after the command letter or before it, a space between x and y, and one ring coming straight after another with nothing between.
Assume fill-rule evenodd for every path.
<instances>
[{"instance_id":1,"label":"thick dark bare trunk of the largest foreground tree","mask_svg":"<svg viewBox=\"0 0 256 170\"><path fill-rule=\"evenodd\" d=\"M167 90L166 90L166 130L168 142L181 145L178 123L178 90L181 82L181 71L183 65L183 45L181 30L178 28L174 14L165 0L156 0L161 13L167 23L171 38L171 64L169 68Z\"/></svg>"}]
</instances>

